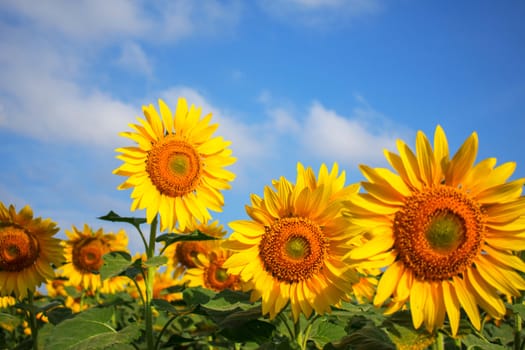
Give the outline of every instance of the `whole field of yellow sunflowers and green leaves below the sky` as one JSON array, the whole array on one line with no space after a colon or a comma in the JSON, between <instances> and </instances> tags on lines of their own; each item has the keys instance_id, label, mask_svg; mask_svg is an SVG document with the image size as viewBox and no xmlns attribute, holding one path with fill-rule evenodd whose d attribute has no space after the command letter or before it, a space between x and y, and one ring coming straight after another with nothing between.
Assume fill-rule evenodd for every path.
<instances>
[{"instance_id":1,"label":"whole field of yellow sunflowers and green leaves below the sky","mask_svg":"<svg viewBox=\"0 0 525 350\"><path fill-rule=\"evenodd\" d=\"M525 178L475 132L398 140L360 183L297 163L228 231L234 145L184 98L143 113L114 174L145 215L99 218L129 229L62 240L0 202L0 349L525 349Z\"/></svg>"}]
</instances>

